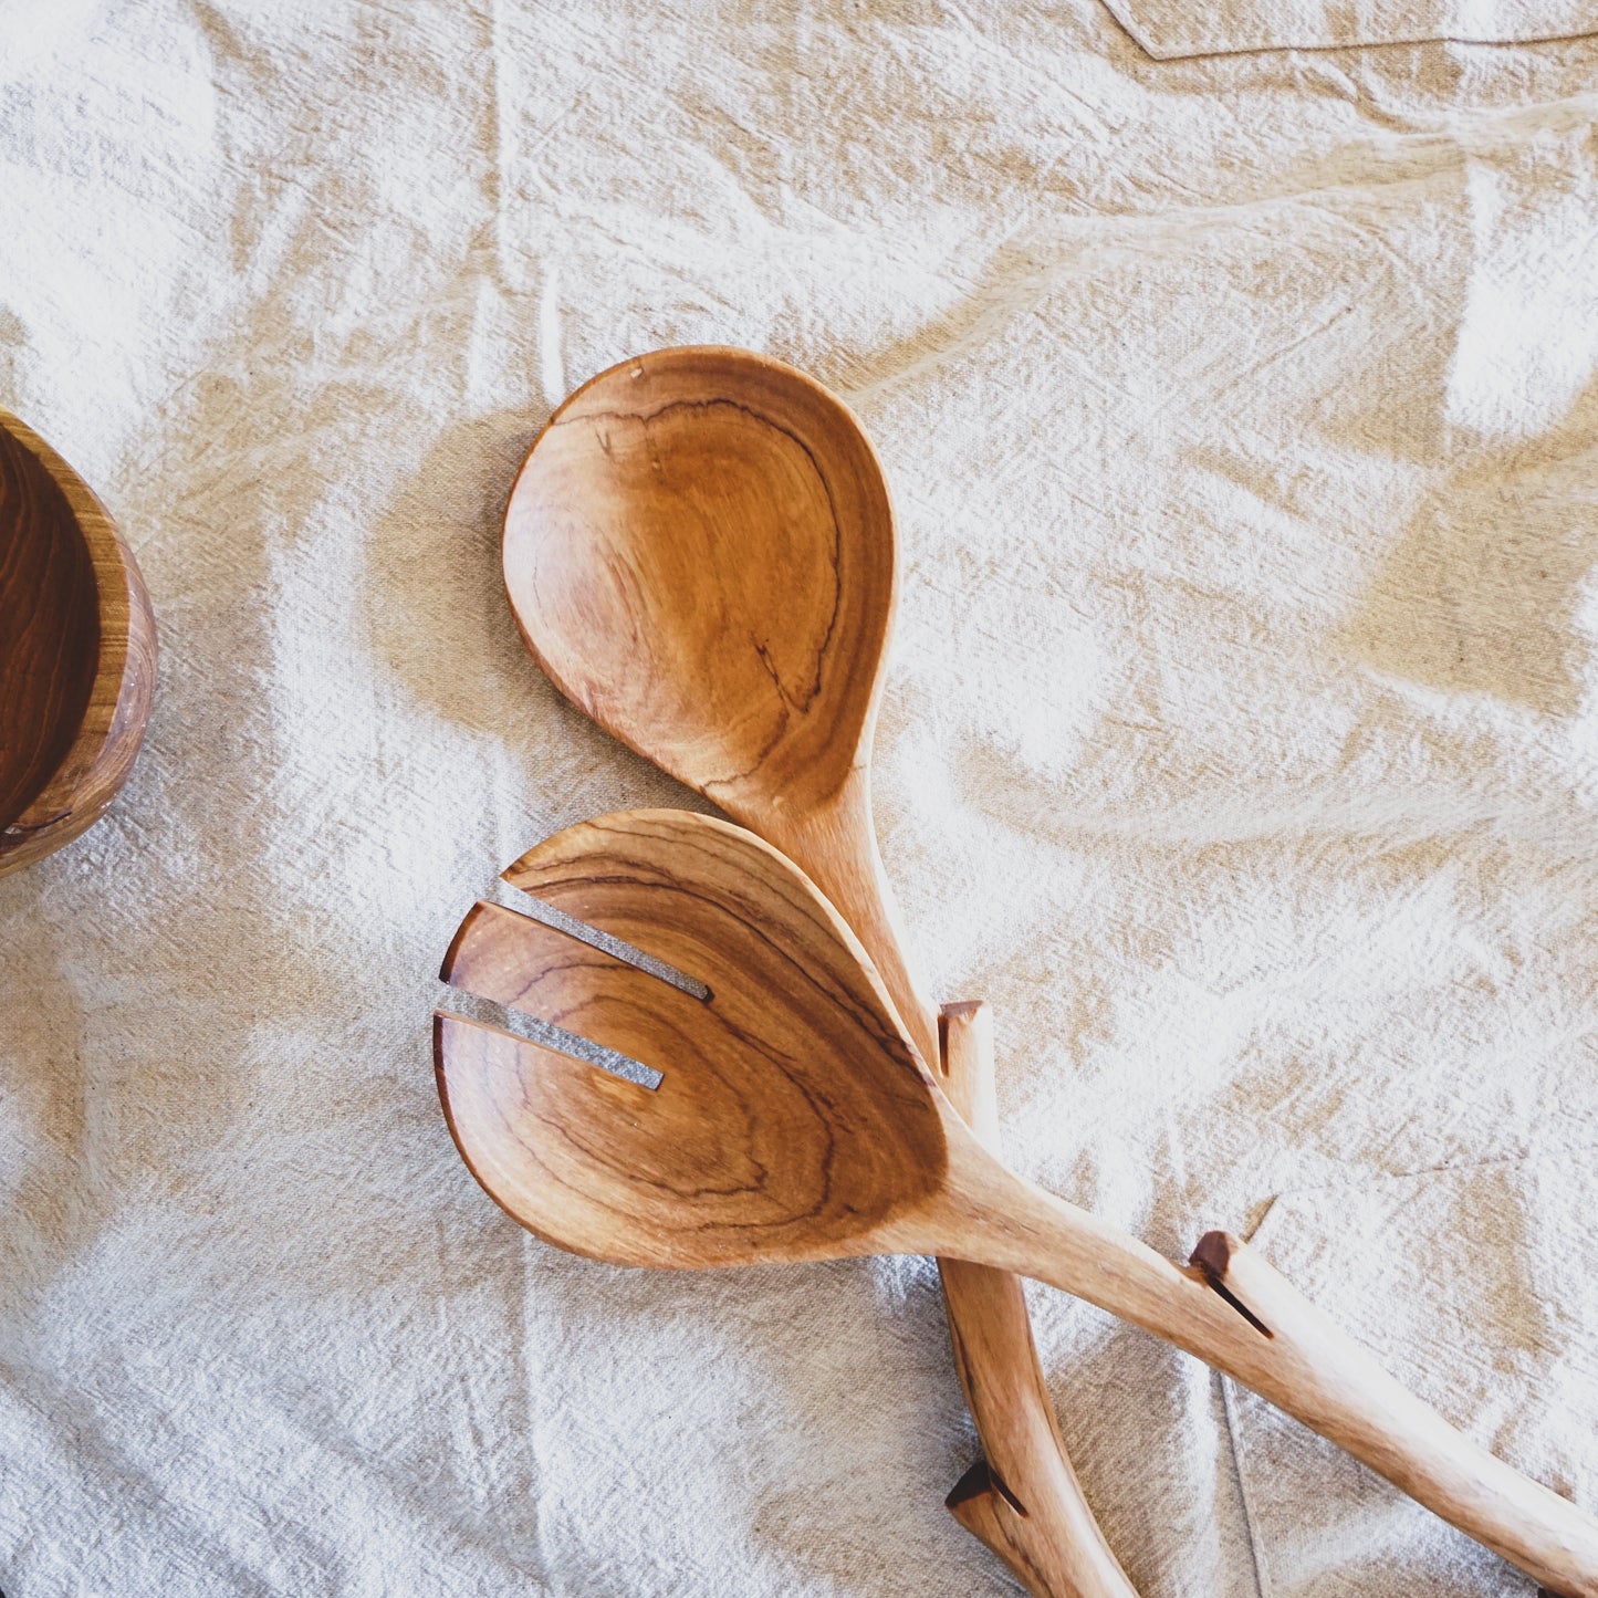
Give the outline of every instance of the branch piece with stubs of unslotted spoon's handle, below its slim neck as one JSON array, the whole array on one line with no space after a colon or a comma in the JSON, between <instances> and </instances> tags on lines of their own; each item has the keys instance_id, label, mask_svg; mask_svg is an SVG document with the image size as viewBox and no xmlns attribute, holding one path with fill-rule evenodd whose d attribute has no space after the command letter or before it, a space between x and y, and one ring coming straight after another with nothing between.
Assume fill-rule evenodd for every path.
<instances>
[{"instance_id":1,"label":"branch piece with stubs of unslotted spoon's handle, below its slim neck","mask_svg":"<svg viewBox=\"0 0 1598 1598\"><path fill-rule=\"evenodd\" d=\"M980 1000L938 1015L943 1090L999 1152L992 1013ZM1032 1344L1021 1280L962 1259L938 1262L954 1363L978 1417L984 1459L948 1497L949 1513L1034 1598L1136 1598L1071 1469ZM981 1338L973 1347L965 1339Z\"/></svg>"}]
</instances>

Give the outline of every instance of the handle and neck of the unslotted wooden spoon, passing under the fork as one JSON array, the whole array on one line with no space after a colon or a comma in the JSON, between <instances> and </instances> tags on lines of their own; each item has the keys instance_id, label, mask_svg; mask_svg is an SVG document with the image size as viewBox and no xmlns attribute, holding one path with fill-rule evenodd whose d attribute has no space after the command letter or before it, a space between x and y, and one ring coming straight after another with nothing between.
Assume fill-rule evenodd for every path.
<instances>
[{"instance_id":1,"label":"handle and neck of the unslotted wooden spoon, passing under the fork","mask_svg":"<svg viewBox=\"0 0 1598 1598\"><path fill-rule=\"evenodd\" d=\"M823 809L738 820L833 901L877 967L927 1067L956 1109L972 1117L978 1136L996 1141L988 1018L980 1028L965 1018L940 1028L911 976L871 821L869 769L855 767ZM1004 1560L1032 1598L1136 1598L1071 1469L1020 1280L964 1259L940 1259L938 1270L954 1363L984 1456L949 1493L949 1513Z\"/></svg>"}]
</instances>

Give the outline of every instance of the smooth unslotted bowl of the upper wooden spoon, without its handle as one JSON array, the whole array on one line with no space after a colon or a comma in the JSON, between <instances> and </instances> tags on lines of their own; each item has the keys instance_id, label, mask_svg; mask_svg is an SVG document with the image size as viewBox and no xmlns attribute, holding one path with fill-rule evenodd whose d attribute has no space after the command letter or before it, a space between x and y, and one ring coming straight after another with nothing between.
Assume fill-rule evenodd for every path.
<instances>
[{"instance_id":1,"label":"smooth unslotted bowl of the upper wooden spoon, without its handle","mask_svg":"<svg viewBox=\"0 0 1598 1598\"><path fill-rule=\"evenodd\" d=\"M555 412L505 515L505 585L601 725L718 804L809 809L869 733L892 513L826 390L757 358L729 384L725 353L642 356Z\"/></svg>"}]
</instances>

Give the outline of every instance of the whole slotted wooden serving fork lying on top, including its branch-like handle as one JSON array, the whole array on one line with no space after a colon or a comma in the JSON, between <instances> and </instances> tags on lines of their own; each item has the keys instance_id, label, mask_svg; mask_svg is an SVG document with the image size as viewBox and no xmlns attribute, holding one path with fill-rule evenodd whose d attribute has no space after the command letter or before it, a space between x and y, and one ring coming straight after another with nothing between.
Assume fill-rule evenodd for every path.
<instances>
[{"instance_id":1,"label":"whole slotted wooden serving fork lying on top, including its branch-like handle","mask_svg":"<svg viewBox=\"0 0 1598 1598\"><path fill-rule=\"evenodd\" d=\"M639 810L558 833L507 877L702 984L500 906L467 916L446 980L663 1072L649 1088L436 1016L455 1143L539 1237L634 1266L935 1253L1036 1277L1226 1371L1550 1590L1598 1598L1598 1521L1453 1430L1261 1256L1211 1232L1184 1269L1008 1171L844 920L753 834Z\"/></svg>"}]
</instances>

